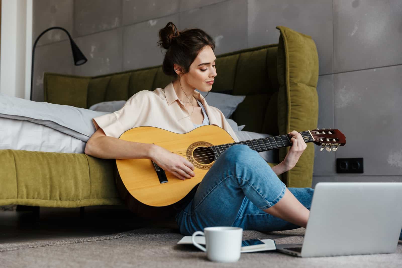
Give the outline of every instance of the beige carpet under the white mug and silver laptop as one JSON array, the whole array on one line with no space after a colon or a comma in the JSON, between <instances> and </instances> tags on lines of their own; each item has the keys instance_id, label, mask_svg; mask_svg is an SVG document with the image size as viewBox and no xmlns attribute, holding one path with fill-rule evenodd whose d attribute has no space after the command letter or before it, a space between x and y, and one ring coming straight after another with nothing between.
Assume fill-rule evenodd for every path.
<instances>
[{"instance_id":1,"label":"beige carpet under the white mug and silver laptop","mask_svg":"<svg viewBox=\"0 0 402 268\"><path fill-rule=\"evenodd\" d=\"M262 233L244 231L243 239L271 238L277 244L302 243L304 228ZM114 236L114 237L113 237ZM120 236L120 237L119 237ZM109 238L107 238L109 237ZM119 238L117 238L119 237ZM297 258L276 251L244 253L236 263L207 260L204 252L192 245L177 245L183 236L178 229L139 228L110 236L64 241L34 248L13 249L0 246L1 267L401 267L402 241L394 254ZM91 240L92 239L92 240ZM58 241L59 243L62 243ZM42 244L41 244L42 243ZM70 243L70 244L66 244ZM49 244L49 243L48 243ZM21 246L21 244L20 244ZM32 246L32 245L31 245Z\"/></svg>"}]
</instances>

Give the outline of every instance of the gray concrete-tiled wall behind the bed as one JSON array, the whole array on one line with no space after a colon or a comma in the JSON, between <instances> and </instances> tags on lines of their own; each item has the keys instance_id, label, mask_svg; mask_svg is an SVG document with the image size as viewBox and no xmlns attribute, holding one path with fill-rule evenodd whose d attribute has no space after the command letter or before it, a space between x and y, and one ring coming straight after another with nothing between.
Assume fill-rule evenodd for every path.
<instances>
[{"instance_id":1,"label":"gray concrete-tiled wall behind the bed","mask_svg":"<svg viewBox=\"0 0 402 268\"><path fill-rule=\"evenodd\" d=\"M402 181L402 1L400 0L41 0L33 2L33 38L62 26L88 58L74 66L64 33L38 43L34 99L44 71L100 75L162 63L158 30L168 21L198 27L216 54L277 43L283 25L310 35L320 61L319 128L347 139L336 152L316 146L320 181ZM365 173L336 174L337 157L363 157Z\"/></svg>"}]
</instances>

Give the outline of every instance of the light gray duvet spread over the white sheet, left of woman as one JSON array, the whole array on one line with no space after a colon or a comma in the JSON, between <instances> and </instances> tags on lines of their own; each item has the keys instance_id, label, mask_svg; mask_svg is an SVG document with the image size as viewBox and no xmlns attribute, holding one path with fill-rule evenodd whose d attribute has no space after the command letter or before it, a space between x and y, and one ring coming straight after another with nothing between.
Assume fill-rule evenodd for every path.
<instances>
[{"instance_id":1,"label":"light gray duvet spread over the white sheet, left of woman","mask_svg":"<svg viewBox=\"0 0 402 268\"><path fill-rule=\"evenodd\" d=\"M95 132L92 118L104 114L109 113L69 105L33 102L0 93L0 117L45 125L84 142Z\"/></svg>"}]
</instances>

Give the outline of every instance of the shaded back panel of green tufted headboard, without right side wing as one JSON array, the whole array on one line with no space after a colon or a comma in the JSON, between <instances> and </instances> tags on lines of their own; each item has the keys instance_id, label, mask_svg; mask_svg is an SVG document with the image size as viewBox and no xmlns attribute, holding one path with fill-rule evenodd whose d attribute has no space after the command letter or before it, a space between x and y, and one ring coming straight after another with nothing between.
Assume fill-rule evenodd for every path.
<instances>
[{"instance_id":1,"label":"shaded back panel of green tufted headboard, without right side wing","mask_svg":"<svg viewBox=\"0 0 402 268\"><path fill-rule=\"evenodd\" d=\"M232 115L239 125L246 125L244 130L279 133L277 51L274 44L217 56L212 92L247 96ZM170 81L161 65L95 77L45 73L45 102L89 108L98 102L127 100L144 89L164 88Z\"/></svg>"}]
</instances>

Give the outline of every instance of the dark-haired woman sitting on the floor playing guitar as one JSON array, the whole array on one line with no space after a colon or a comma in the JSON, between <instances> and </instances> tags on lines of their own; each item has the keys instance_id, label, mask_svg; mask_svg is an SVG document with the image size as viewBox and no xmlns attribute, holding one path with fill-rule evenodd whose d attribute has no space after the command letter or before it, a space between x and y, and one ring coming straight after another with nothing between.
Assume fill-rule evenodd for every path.
<instances>
[{"instance_id":1,"label":"dark-haired woman sitting on the floor playing guitar","mask_svg":"<svg viewBox=\"0 0 402 268\"><path fill-rule=\"evenodd\" d=\"M178 32L172 22L160 29L159 37L158 45L166 49L162 70L174 80L164 89L139 91L121 110L94 118L96 132L88 140L85 153L106 159L152 159L165 171L185 180L195 176L194 166L187 159L160 146L120 140L119 136L137 126L187 133L198 126L214 124L236 142L238 138L222 112L208 106L195 91L210 91L217 75L213 39L200 29ZM187 236L207 226L258 231L306 227L314 190L287 188L277 176L292 169L307 147L300 133L289 134L292 146L280 164L271 168L258 152L236 144L215 161L198 187L181 202L165 207L164 212L174 213L180 233ZM135 207L133 199L127 199L130 195L121 190L121 180L117 184L131 211L144 212L140 204ZM155 208L143 210L146 209Z\"/></svg>"}]
</instances>

